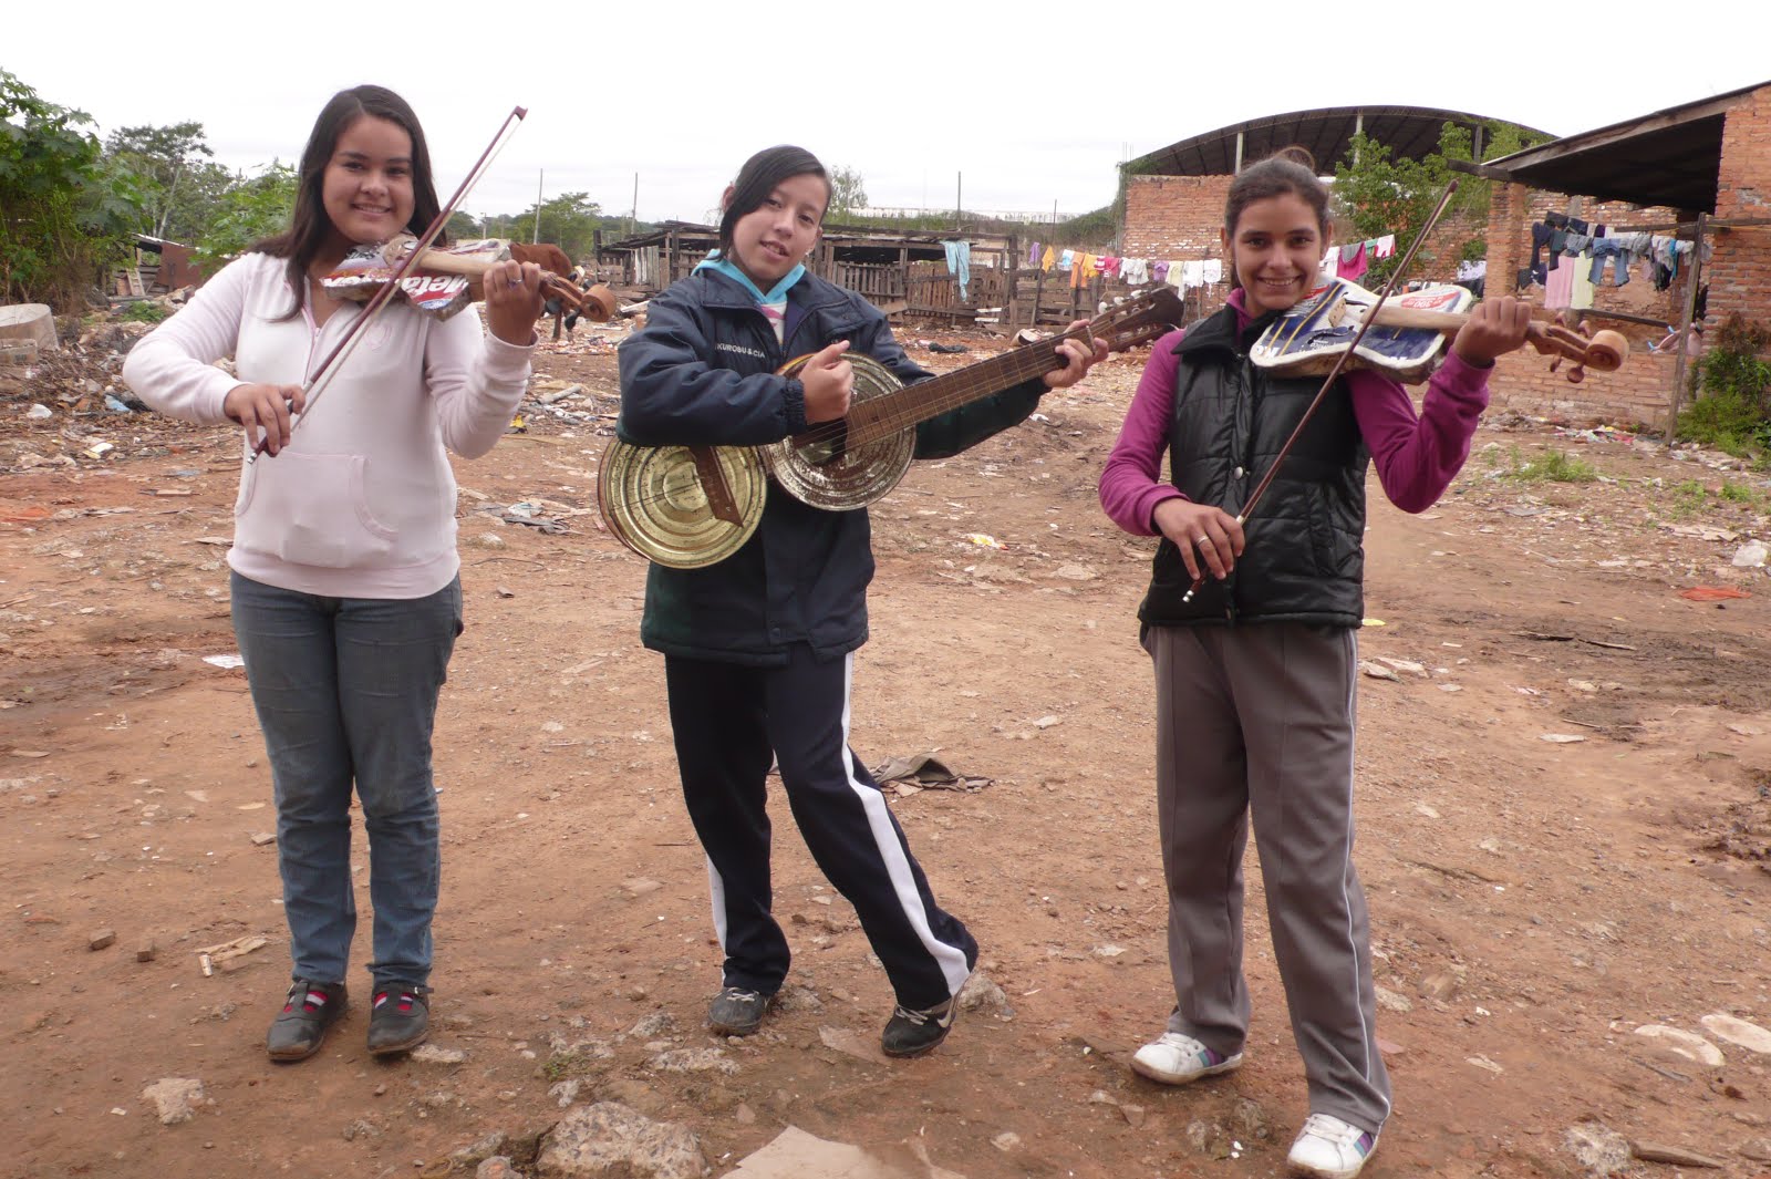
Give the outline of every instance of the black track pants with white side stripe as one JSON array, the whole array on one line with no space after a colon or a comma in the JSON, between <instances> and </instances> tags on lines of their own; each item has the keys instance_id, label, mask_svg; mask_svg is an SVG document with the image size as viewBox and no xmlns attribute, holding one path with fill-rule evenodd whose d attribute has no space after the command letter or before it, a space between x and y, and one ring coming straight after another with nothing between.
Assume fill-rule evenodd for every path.
<instances>
[{"instance_id":1,"label":"black track pants with white side stripe","mask_svg":"<svg viewBox=\"0 0 1771 1179\"><path fill-rule=\"evenodd\" d=\"M854 655L818 660L795 646L785 667L666 657L677 767L689 818L707 852L724 986L772 995L788 944L770 913L770 759L813 860L841 892L898 1002L933 1007L956 995L978 942L942 912L886 805L848 747Z\"/></svg>"}]
</instances>

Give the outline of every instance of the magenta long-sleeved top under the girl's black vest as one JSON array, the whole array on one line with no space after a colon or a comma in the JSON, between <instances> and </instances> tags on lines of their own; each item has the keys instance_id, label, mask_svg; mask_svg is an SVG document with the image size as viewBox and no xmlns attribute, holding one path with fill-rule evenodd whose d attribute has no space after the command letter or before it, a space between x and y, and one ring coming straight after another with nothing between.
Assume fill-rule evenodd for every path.
<instances>
[{"instance_id":1,"label":"magenta long-sleeved top under the girl's black vest","mask_svg":"<svg viewBox=\"0 0 1771 1179\"><path fill-rule=\"evenodd\" d=\"M1241 290L1231 292L1229 306L1236 312L1238 331L1245 329L1249 313L1241 308ZM1172 483L1158 482L1174 420L1174 377L1181 366L1174 347L1181 335L1171 331L1151 349L1119 441L1102 471L1102 508L1137 536L1153 536L1156 505L1181 494ZM1463 469L1475 423L1488 409L1488 374L1489 368L1477 368L1452 352L1427 382L1419 414L1408 391L1390 377L1371 370L1346 374L1353 416L1378 467L1378 482L1403 512L1431 508Z\"/></svg>"}]
</instances>

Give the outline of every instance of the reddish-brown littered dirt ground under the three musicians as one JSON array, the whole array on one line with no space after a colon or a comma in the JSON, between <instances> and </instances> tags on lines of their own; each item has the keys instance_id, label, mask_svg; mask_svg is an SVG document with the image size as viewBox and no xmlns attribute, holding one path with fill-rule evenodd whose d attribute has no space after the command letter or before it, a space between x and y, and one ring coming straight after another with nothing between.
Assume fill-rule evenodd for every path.
<instances>
[{"instance_id":1,"label":"reddish-brown littered dirt ground under the three musicians","mask_svg":"<svg viewBox=\"0 0 1771 1179\"><path fill-rule=\"evenodd\" d=\"M937 368L1001 347L901 335ZM590 338L537 358L554 400L526 434L457 466L432 1037L455 1062L372 1060L360 970L319 1057L264 1057L289 974L255 839L269 774L243 673L205 662L236 650L234 434L104 412L92 388L85 416L0 397L0 1174L437 1175L491 1131L545 1129L574 1089L687 1124L715 1174L788 1124L971 1179L1282 1174L1307 1110L1252 859L1247 1066L1190 1089L1126 1069L1172 1002L1133 620L1151 543L1105 520L1094 480L1144 352L873 510L854 740L870 765L939 751L990 781L893 807L1002 993L886 1062L884 974L783 805L788 1002L742 1043L701 1027L707 869L638 639L645 563L597 522L616 386ZM1520 478L1546 455L1603 478ZM1493 414L1436 508L1404 515L1376 478L1373 501L1360 650L1396 678L1360 680L1358 869L1396 1114L1365 1174L1582 1175L1620 1140L1628 1174L1771 1174L1771 1055L1702 1023L1771 1027L1771 582L1730 565L1771 483ZM1681 597L1697 586L1750 597ZM354 860L361 963L361 839ZM197 951L251 936L204 974ZM202 1082L195 1119L161 1124L161 1078ZM1720 1170L1640 1158L1656 1145Z\"/></svg>"}]
</instances>

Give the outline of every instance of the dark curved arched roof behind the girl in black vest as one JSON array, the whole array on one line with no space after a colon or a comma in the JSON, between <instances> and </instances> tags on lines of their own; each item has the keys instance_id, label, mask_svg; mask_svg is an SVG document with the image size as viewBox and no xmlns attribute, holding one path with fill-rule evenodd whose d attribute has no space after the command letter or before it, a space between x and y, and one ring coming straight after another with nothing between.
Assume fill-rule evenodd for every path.
<instances>
[{"instance_id":1,"label":"dark curved arched roof behind the girl in black vest","mask_svg":"<svg viewBox=\"0 0 1771 1179\"><path fill-rule=\"evenodd\" d=\"M1282 147L1298 145L1316 159L1318 172L1326 173L1334 172L1335 161L1351 152L1353 135L1358 131L1388 147L1392 159L1420 159L1438 150L1440 133L1447 122L1470 127L1481 149L1484 124L1505 120L1431 106L1326 106L1250 119L1195 135L1139 156L1126 165L1126 170L1137 175L1231 175L1236 172L1240 142L1245 165L1264 159ZM1548 135L1535 127L1525 131Z\"/></svg>"}]
</instances>

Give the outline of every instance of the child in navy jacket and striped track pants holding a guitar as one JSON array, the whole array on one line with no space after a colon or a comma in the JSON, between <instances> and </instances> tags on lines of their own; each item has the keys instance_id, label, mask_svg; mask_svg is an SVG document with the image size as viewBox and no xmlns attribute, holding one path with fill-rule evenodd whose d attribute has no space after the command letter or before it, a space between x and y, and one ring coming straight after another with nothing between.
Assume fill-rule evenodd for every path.
<instances>
[{"instance_id":1,"label":"child in navy jacket and striped track pants holding a guitar","mask_svg":"<svg viewBox=\"0 0 1771 1179\"><path fill-rule=\"evenodd\" d=\"M806 269L831 181L799 147L746 161L721 200L719 251L652 299L620 349L618 432L645 446L756 446L838 421L854 391L850 351L901 381L930 374L861 296ZM1091 352L1059 345L1063 368L924 421L916 455L939 458L1022 421L1047 389L1082 379ZM797 377L788 358L813 354ZM770 913L770 763L818 867L854 906L896 1006L880 1046L930 1052L956 1014L978 944L928 887L886 797L848 745L854 653L868 639L873 551L866 510L824 512L770 489L756 533L705 568L652 565L641 641L664 655L677 767L707 852L723 988L714 1032L754 1032L788 972Z\"/></svg>"}]
</instances>

